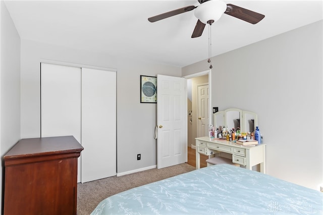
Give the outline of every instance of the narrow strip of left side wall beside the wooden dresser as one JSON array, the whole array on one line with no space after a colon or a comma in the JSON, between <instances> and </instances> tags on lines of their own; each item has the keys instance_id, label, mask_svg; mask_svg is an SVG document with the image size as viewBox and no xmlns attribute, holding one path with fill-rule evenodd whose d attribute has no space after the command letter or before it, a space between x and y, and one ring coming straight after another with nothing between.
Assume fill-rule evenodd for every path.
<instances>
[{"instance_id":1,"label":"narrow strip of left side wall beside the wooden dresser","mask_svg":"<svg viewBox=\"0 0 323 215\"><path fill-rule=\"evenodd\" d=\"M3 156L20 139L20 36L3 1L0 1L0 14L0 184L3 193Z\"/></svg>"}]
</instances>

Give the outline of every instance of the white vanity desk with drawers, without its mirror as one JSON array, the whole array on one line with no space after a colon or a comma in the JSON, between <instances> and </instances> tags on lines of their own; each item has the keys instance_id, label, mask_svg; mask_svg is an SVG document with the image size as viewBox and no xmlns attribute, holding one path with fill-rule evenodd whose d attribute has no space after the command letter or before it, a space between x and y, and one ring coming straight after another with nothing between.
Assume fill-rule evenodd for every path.
<instances>
[{"instance_id":1,"label":"white vanity desk with drawers, without its mirror","mask_svg":"<svg viewBox=\"0 0 323 215\"><path fill-rule=\"evenodd\" d=\"M232 154L232 162L246 169L252 170L252 167L260 164L260 172L265 173L265 152L266 144L256 146L241 146L232 141L216 140L209 137L198 137L196 139L196 169L200 169L200 154L212 157L218 152L227 152Z\"/></svg>"}]
</instances>

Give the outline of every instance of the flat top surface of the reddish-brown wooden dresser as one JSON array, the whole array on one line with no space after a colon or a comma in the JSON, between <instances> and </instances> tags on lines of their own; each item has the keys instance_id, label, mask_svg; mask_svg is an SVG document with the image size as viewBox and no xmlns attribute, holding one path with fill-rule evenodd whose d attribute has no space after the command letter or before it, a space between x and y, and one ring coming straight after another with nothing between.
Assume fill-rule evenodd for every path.
<instances>
[{"instance_id":1,"label":"flat top surface of the reddish-brown wooden dresser","mask_svg":"<svg viewBox=\"0 0 323 215\"><path fill-rule=\"evenodd\" d=\"M83 147L73 136L28 138L21 139L4 156L4 159L80 152L82 150Z\"/></svg>"}]
</instances>

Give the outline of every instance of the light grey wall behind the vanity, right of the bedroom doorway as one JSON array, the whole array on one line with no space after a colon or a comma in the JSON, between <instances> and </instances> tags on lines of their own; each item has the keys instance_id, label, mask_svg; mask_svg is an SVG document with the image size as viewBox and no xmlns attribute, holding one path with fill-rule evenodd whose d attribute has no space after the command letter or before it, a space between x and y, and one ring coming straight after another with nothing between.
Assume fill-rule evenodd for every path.
<instances>
[{"instance_id":1,"label":"light grey wall behind the vanity, right of the bedroom doorway","mask_svg":"<svg viewBox=\"0 0 323 215\"><path fill-rule=\"evenodd\" d=\"M257 113L266 173L312 189L323 183L322 38L319 21L212 58L212 106Z\"/></svg>"}]
</instances>

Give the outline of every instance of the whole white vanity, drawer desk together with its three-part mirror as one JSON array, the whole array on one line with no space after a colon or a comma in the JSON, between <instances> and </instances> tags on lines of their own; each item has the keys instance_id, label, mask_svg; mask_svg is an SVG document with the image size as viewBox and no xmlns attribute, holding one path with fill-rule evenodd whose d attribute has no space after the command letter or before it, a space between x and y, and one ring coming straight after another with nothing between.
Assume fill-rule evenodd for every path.
<instances>
[{"instance_id":1,"label":"whole white vanity, drawer desk together with its three-part mirror","mask_svg":"<svg viewBox=\"0 0 323 215\"><path fill-rule=\"evenodd\" d=\"M258 126L257 114L240 109L227 109L213 114L214 127L225 126L229 129L240 128L241 132L253 132ZM260 164L260 172L265 173L266 144L256 146L241 146L233 141L219 140L217 138L198 137L196 140L196 169L200 168L200 154L208 155L209 158L219 152L232 154L232 162L252 167Z\"/></svg>"}]
</instances>

